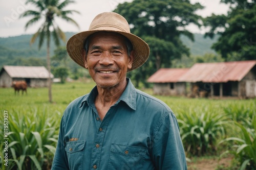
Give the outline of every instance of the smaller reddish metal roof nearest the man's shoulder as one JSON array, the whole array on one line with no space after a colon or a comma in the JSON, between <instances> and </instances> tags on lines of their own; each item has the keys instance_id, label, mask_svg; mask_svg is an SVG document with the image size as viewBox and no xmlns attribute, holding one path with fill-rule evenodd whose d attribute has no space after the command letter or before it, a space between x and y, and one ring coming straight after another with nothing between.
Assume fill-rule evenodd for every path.
<instances>
[{"instance_id":1,"label":"smaller reddish metal roof nearest the man's shoulder","mask_svg":"<svg viewBox=\"0 0 256 170\"><path fill-rule=\"evenodd\" d=\"M189 68L160 68L147 82L150 83L176 83Z\"/></svg>"}]
</instances>

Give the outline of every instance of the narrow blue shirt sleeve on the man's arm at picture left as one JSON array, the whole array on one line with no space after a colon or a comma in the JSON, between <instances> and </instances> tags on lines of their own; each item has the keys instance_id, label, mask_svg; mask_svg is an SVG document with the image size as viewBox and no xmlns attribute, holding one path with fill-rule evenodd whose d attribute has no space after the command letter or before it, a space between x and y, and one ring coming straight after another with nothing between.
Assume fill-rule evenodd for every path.
<instances>
[{"instance_id":1,"label":"narrow blue shirt sleeve on the man's arm at picture left","mask_svg":"<svg viewBox=\"0 0 256 170\"><path fill-rule=\"evenodd\" d=\"M65 128L64 116L61 118L60 128L59 128L59 138L56 147L56 152L53 158L52 170L69 169L68 158L65 151L66 141L64 139L64 128Z\"/></svg>"}]
</instances>

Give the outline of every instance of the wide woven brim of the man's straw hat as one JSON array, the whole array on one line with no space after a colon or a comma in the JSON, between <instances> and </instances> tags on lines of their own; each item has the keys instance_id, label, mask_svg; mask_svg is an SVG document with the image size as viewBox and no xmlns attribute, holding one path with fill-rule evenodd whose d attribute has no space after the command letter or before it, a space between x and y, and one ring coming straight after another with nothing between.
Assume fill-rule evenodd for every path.
<instances>
[{"instance_id":1,"label":"wide woven brim of the man's straw hat","mask_svg":"<svg viewBox=\"0 0 256 170\"><path fill-rule=\"evenodd\" d=\"M132 71L141 65L143 65L148 56L150 55L150 47L147 45L145 41L143 41L138 36L121 32L121 31L115 31L115 30L108 30L108 29L101 29L101 30L92 30L92 31L84 31L77 33L73 35L67 42L67 51L69 56L81 67L84 67L83 57L82 57L82 51L83 51L83 43L84 40L90 36L93 33L100 32L100 31L107 31L107 32L115 32L119 33L126 38L128 38L133 45L133 51L134 51L134 61L132 64L132 68L128 69L127 71ZM84 67L85 68L85 67Z\"/></svg>"}]
</instances>

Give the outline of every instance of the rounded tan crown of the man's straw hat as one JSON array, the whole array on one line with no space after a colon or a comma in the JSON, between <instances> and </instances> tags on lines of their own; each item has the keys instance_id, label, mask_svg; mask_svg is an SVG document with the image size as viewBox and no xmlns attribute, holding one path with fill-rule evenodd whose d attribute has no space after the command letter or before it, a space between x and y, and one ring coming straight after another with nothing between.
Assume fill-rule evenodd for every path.
<instances>
[{"instance_id":1,"label":"rounded tan crown of the man's straw hat","mask_svg":"<svg viewBox=\"0 0 256 170\"><path fill-rule=\"evenodd\" d=\"M127 20L115 12L103 12L97 15L89 27L89 31L93 30L131 33Z\"/></svg>"}]
</instances>

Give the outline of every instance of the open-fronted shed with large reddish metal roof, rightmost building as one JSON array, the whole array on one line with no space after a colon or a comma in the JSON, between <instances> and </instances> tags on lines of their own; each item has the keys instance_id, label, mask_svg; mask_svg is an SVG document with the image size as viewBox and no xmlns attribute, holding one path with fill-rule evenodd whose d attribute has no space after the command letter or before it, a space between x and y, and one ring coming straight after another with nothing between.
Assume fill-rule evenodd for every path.
<instances>
[{"instance_id":1,"label":"open-fronted shed with large reddish metal roof, rightmost building","mask_svg":"<svg viewBox=\"0 0 256 170\"><path fill-rule=\"evenodd\" d=\"M210 96L256 97L256 60L196 63L179 82L190 82L191 91L205 91ZM195 91L195 89L194 89Z\"/></svg>"}]
</instances>

